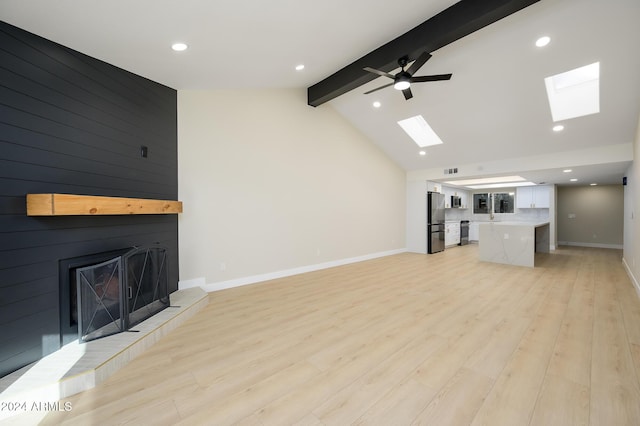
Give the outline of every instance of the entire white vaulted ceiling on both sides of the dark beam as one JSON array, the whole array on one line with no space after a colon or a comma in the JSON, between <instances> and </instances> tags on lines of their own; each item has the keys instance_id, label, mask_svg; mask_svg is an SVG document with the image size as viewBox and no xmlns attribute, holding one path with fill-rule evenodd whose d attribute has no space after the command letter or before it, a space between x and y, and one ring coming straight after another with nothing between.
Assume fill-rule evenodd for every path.
<instances>
[{"instance_id":1,"label":"entire white vaulted ceiling on both sides of the dark beam","mask_svg":"<svg viewBox=\"0 0 640 426\"><path fill-rule=\"evenodd\" d=\"M0 19L178 90L306 89L454 4L2 0ZM573 168L579 184L619 183L640 115L639 23L637 0L541 0L436 46L416 75L452 79L414 84L408 101L392 87L365 95L390 81L362 71L353 80L370 81L317 108L336 109L405 170L429 178L449 177L443 169L455 167L460 176L515 170L562 184L562 170ZM542 35L551 42L537 48ZM173 52L175 41L189 49ZM397 56L404 54L415 57ZM544 78L593 62L600 62L600 113L565 120L564 131L553 132ZM301 63L305 69L295 71ZM398 71L388 60L367 66ZM444 142L425 156L397 125L418 114Z\"/></svg>"}]
</instances>

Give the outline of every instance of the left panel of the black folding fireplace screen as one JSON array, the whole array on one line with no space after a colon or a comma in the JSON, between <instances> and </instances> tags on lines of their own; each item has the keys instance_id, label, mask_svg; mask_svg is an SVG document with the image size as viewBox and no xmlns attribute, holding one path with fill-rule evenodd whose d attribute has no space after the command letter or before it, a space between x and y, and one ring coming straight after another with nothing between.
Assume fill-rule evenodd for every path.
<instances>
[{"instance_id":1,"label":"left panel of the black folding fireplace screen","mask_svg":"<svg viewBox=\"0 0 640 426\"><path fill-rule=\"evenodd\" d=\"M123 262L118 256L76 270L78 337L87 342L125 330Z\"/></svg>"}]
</instances>

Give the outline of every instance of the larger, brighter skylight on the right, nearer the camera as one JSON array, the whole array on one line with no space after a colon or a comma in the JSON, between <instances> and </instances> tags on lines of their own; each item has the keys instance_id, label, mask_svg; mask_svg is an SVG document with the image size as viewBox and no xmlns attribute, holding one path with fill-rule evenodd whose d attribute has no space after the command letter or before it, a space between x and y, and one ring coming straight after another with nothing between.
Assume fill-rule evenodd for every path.
<instances>
[{"instance_id":1,"label":"larger, brighter skylight on the right, nearer the camera","mask_svg":"<svg viewBox=\"0 0 640 426\"><path fill-rule=\"evenodd\" d=\"M553 121L600 112L600 62L544 79Z\"/></svg>"}]
</instances>

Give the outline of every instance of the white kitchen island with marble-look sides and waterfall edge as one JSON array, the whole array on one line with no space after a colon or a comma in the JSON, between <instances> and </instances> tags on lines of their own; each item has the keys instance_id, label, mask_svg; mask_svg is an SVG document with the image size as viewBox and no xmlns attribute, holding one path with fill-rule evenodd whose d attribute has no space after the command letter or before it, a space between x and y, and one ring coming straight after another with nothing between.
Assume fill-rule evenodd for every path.
<instances>
[{"instance_id":1,"label":"white kitchen island with marble-look sides and waterfall edge","mask_svg":"<svg viewBox=\"0 0 640 426\"><path fill-rule=\"evenodd\" d=\"M549 253L549 222L482 222L480 260L535 266L535 254Z\"/></svg>"}]
</instances>

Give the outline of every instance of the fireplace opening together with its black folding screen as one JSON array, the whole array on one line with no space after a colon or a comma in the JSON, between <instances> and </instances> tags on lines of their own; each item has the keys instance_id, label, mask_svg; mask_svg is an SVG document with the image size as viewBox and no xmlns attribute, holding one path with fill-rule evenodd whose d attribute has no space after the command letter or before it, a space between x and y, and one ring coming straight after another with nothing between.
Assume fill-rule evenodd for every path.
<instances>
[{"instance_id":1,"label":"fireplace opening together with its black folding screen","mask_svg":"<svg viewBox=\"0 0 640 426\"><path fill-rule=\"evenodd\" d=\"M127 331L168 307L167 257L152 245L60 261L60 343Z\"/></svg>"}]
</instances>

